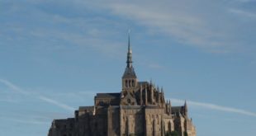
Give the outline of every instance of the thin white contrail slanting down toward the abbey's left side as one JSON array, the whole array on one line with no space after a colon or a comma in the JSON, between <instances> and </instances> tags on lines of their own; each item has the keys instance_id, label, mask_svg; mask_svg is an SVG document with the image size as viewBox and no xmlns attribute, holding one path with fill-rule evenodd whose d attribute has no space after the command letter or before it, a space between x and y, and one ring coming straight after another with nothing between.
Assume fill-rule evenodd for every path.
<instances>
[{"instance_id":1,"label":"thin white contrail slanting down toward the abbey's left side","mask_svg":"<svg viewBox=\"0 0 256 136\"><path fill-rule=\"evenodd\" d=\"M71 106L67 106L65 105L64 103L61 103L59 101L55 101L55 100L52 100L48 97L45 97L45 96L35 96L35 95L32 95L30 92L28 91L24 91L23 89L21 89L21 87L17 87L16 85L14 85L12 82L9 82L7 80L4 80L4 79L1 79L0 78L0 82L2 82L4 85L6 85L7 87L11 88L13 91L17 91L23 95L26 95L26 96L34 96L36 97L37 99L41 100L41 101L45 101L47 103L50 103L52 105L55 105L55 106L59 106L60 108L63 108L64 110L75 110L73 107Z\"/></svg>"}]
</instances>

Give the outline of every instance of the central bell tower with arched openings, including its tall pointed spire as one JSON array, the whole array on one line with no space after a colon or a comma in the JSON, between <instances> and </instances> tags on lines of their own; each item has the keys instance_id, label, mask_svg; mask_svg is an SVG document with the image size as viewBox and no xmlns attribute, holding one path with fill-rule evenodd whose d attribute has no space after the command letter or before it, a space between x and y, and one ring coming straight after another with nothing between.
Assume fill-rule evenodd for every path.
<instances>
[{"instance_id":1,"label":"central bell tower with arched openings, including its tall pointed spire","mask_svg":"<svg viewBox=\"0 0 256 136\"><path fill-rule=\"evenodd\" d=\"M130 90L137 86L137 77L135 69L132 67L132 51L130 48L130 33L128 33L128 53L126 60L126 71L122 77L122 90Z\"/></svg>"}]
</instances>

